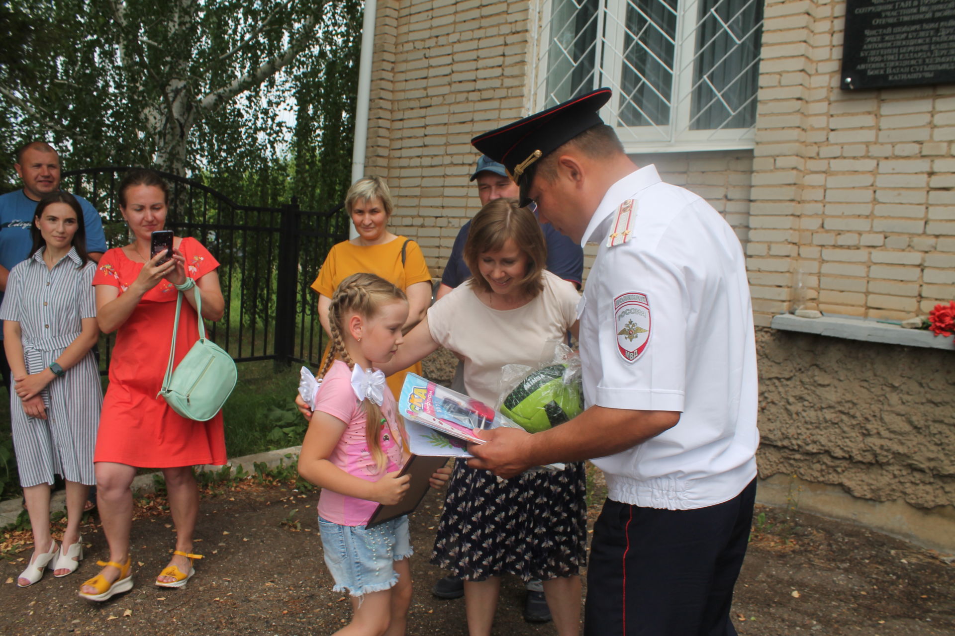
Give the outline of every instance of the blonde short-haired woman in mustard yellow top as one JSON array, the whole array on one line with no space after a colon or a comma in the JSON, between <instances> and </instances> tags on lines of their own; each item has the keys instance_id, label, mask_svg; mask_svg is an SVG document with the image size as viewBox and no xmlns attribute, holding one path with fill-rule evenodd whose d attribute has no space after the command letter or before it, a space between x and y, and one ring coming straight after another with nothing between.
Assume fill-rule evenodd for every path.
<instances>
[{"instance_id":1,"label":"blonde short-haired woman in mustard yellow top","mask_svg":"<svg viewBox=\"0 0 955 636\"><path fill-rule=\"evenodd\" d=\"M392 193L378 176L358 179L345 197L345 209L358 236L338 243L329 251L322 269L311 288L318 293L318 318L329 333L329 304L338 283L352 274L365 272L391 281L408 296L408 322L403 331L408 333L424 318L431 303L431 272L424 262L421 248L413 240L388 231L392 215ZM329 350L326 348L325 355ZM405 374L421 373L417 362L388 379L395 400L401 393Z\"/></svg>"}]
</instances>

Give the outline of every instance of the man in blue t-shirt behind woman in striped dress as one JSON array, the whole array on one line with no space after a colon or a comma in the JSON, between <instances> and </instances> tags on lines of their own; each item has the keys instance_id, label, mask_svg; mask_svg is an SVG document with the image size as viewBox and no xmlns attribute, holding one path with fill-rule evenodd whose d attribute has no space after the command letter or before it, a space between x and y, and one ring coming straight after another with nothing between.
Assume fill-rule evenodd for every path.
<instances>
[{"instance_id":1,"label":"man in blue t-shirt behind woman in striped dress","mask_svg":"<svg viewBox=\"0 0 955 636\"><path fill-rule=\"evenodd\" d=\"M0 301L7 289L7 277L13 266L30 256L33 241L30 226L36 202L47 193L59 190L59 155L53 146L43 141L32 141L16 151L16 174L23 181L23 189L0 195ZM96 208L82 196L76 196L83 209L86 225L86 250L90 257L99 261L106 251L106 236L103 223ZM0 332L0 340L3 333ZM4 385L10 388L10 366L7 357L0 356L0 373Z\"/></svg>"}]
</instances>

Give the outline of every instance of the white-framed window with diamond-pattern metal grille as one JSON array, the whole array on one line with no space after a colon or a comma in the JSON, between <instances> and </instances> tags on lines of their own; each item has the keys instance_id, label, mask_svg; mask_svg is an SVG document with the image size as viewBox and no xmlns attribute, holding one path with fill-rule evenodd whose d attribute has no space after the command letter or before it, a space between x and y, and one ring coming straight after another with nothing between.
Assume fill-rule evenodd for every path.
<instances>
[{"instance_id":1,"label":"white-framed window with diamond-pattern metal grille","mask_svg":"<svg viewBox=\"0 0 955 636\"><path fill-rule=\"evenodd\" d=\"M537 107L607 86L628 152L753 148L763 0L543 0Z\"/></svg>"}]
</instances>

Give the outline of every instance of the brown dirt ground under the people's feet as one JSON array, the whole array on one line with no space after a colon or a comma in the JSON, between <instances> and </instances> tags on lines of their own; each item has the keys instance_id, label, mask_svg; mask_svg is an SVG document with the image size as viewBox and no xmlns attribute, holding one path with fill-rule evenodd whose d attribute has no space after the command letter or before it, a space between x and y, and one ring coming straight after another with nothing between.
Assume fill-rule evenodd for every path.
<instances>
[{"instance_id":1,"label":"brown dirt ground under the people's feet","mask_svg":"<svg viewBox=\"0 0 955 636\"><path fill-rule=\"evenodd\" d=\"M73 575L20 589L15 577L30 550L7 552L0 570L0 633L329 634L348 620L349 603L331 591L314 515L317 493L284 484L219 486L203 497L196 550L205 555L181 589L151 585L173 546L162 501L141 498L133 525L136 586L104 604L76 597L107 555L102 531L84 527L86 560ZM462 600L429 589L442 576L427 563L441 495L412 516L416 585L408 633L466 634ZM593 513L597 505L592 506ZM865 634L955 636L955 565L931 551L847 523L775 509L754 524L736 586L733 620L745 636ZM16 537L7 537L5 549ZM523 590L505 579L497 634L553 634L520 616Z\"/></svg>"}]
</instances>

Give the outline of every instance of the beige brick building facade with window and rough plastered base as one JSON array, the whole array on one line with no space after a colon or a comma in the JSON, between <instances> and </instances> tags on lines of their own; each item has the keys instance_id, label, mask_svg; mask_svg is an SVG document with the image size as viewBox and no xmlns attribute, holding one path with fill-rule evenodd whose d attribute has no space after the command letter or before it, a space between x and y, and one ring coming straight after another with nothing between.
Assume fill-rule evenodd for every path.
<instances>
[{"instance_id":1,"label":"beige brick building facade with window and rough plastered base","mask_svg":"<svg viewBox=\"0 0 955 636\"><path fill-rule=\"evenodd\" d=\"M955 298L955 85L842 90L845 10L383 0L366 173L438 277L479 207L471 137L609 86L627 153L749 257L760 498L955 549L955 344L896 324Z\"/></svg>"}]
</instances>

